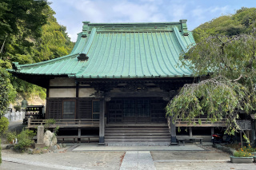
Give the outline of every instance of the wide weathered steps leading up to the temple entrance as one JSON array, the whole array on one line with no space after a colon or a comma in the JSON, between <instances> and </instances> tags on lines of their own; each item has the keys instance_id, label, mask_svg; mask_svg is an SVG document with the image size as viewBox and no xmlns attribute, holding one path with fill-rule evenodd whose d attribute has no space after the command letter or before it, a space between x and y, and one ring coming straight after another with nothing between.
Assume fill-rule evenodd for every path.
<instances>
[{"instance_id":1,"label":"wide weathered steps leading up to the temple entrance","mask_svg":"<svg viewBox=\"0 0 256 170\"><path fill-rule=\"evenodd\" d=\"M107 125L106 145L169 145L170 131L166 124Z\"/></svg>"}]
</instances>

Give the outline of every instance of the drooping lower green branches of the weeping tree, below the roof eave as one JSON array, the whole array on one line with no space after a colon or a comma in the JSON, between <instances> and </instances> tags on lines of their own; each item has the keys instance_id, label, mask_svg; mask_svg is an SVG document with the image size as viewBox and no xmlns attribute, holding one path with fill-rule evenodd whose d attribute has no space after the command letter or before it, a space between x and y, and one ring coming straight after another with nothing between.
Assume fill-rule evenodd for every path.
<instances>
[{"instance_id":1,"label":"drooping lower green branches of the weeping tree, below the roof eave","mask_svg":"<svg viewBox=\"0 0 256 170\"><path fill-rule=\"evenodd\" d=\"M174 122L187 121L191 125L196 117L204 115L206 121L212 123L223 121L226 132L234 134L239 130L236 122L238 110L250 113L254 110L255 101L254 94L246 86L219 76L198 84L184 85L166 106L166 116L174 117ZM200 124L200 118L198 122Z\"/></svg>"}]
</instances>

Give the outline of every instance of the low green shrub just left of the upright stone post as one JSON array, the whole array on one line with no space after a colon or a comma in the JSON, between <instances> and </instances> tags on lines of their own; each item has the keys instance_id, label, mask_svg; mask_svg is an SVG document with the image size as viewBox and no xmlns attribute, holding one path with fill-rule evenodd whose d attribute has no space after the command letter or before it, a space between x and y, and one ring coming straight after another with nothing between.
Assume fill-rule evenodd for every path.
<instances>
[{"instance_id":1,"label":"low green shrub just left of the upright stone post","mask_svg":"<svg viewBox=\"0 0 256 170\"><path fill-rule=\"evenodd\" d=\"M32 140L35 136L35 132L29 129L23 129L21 133L18 134L18 144L14 146L14 150L19 152L24 152L24 150L30 147L34 141Z\"/></svg>"}]
</instances>

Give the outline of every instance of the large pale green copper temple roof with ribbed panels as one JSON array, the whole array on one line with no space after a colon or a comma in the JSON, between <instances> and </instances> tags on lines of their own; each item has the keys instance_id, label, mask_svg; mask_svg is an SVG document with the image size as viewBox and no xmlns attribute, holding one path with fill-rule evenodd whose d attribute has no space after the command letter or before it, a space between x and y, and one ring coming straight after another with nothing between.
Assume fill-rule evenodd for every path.
<instances>
[{"instance_id":1,"label":"large pale green copper temple roof with ribbed panels","mask_svg":"<svg viewBox=\"0 0 256 170\"><path fill-rule=\"evenodd\" d=\"M186 20L167 23L84 22L70 55L30 65L14 63L13 73L78 78L183 77L179 54L194 44Z\"/></svg>"}]
</instances>

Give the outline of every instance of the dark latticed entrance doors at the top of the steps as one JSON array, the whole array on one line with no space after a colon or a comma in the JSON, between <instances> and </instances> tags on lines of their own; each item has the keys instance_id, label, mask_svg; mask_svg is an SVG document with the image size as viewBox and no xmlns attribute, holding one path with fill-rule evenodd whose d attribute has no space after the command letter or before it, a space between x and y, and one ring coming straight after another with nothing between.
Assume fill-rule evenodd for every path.
<instances>
[{"instance_id":1,"label":"dark latticed entrance doors at the top of the steps","mask_svg":"<svg viewBox=\"0 0 256 170\"><path fill-rule=\"evenodd\" d=\"M107 123L166 123L167 102L162 98L112 98L106 102Z\"/></svg>"}]
</instances>

